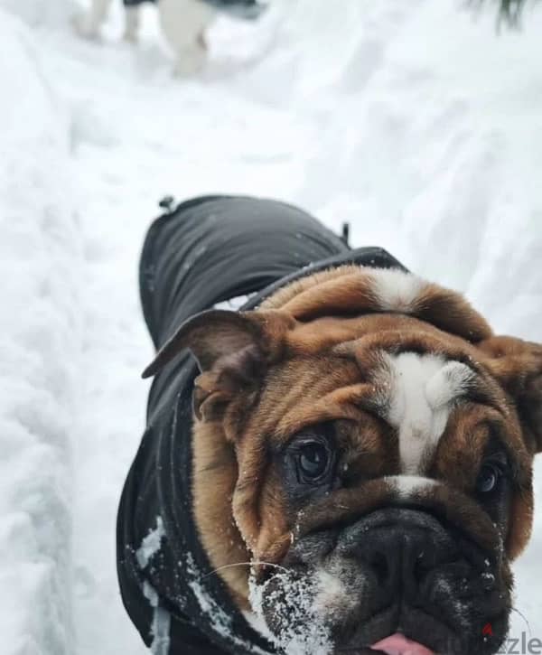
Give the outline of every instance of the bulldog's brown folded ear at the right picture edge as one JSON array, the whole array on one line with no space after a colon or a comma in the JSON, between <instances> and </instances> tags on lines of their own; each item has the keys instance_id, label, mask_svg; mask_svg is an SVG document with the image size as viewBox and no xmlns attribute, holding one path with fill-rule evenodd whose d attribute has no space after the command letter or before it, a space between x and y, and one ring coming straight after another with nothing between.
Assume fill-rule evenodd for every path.
<instances>
[{"instance_id":1,"label":"bulldog's brown folded ear at the right picture edge","mask_svg":"<svg viewBox=\"0 0 542 655\"><path fill-rule=\"evenodd\" d=\"M518 409L524 438L531 453L542 451L542 345L513 337L491 337L478 344Z\"/></svg>"}]
</instances>

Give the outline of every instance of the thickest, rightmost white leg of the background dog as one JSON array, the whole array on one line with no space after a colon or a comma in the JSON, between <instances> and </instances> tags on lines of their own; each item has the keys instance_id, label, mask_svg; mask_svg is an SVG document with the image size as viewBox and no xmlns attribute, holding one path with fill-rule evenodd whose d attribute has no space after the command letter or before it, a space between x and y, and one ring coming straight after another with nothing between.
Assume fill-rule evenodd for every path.
<instances>
[{"instance_id":1,"label":"thickest, rightmost white leg of the background dog","mask_svg":"<svg viewBox=\"0 0 542 655\"><path fill-rule=\"evenodd\" d=\"M160 23L175 54L173 73L193 75L205 65L207 44L204 33L215 18L215 10L198 0L160 0Z\"/></svg>"}]
</instances>

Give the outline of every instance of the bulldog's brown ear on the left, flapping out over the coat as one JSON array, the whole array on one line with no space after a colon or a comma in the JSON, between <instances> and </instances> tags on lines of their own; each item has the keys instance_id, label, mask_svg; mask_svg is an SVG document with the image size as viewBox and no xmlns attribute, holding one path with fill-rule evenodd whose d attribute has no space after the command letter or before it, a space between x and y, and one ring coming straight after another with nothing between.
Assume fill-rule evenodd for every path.
<instances>
[{"instance_id":1,"label":"bulldog's brown ear on the left, flapping out over the coat","mask_svg":"<svg viewBox=\"0 0 542 655\"><path fill-rule=\"evenodd\" d=\"M194 412L200 419L218 418L236 392L263 377L269 359L293 323L287 313L274 310L196 314L164 343L143 377L153 376L189 348L201 370L194 386Z\"/></svg>"}]
</instances>

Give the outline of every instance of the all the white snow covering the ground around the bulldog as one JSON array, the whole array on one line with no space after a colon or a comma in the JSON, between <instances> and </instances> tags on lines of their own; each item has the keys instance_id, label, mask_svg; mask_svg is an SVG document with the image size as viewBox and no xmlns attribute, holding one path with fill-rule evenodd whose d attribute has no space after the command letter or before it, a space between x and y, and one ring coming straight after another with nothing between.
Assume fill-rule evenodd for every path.
<instances>
[{"instance_id":1,"label":"all the white snow covering the ground around the bulldog","mask_svg":"<svg viewBox=\"0 0 542 655\"><path fill-rule=\"evenodd\" d=\"M463 0L276 0L220 21L173 81L153 7L136 47L70 0L0 0L0 634L5 655L144 653L115 517L151 359L137 296L167 192L274 196L542 341L542 11ZM491 5L491 4L490 4ZM538 466L540 501L542 471ZM542 635L542 509L516 607ZM513 632L526 624L513 614Z\"/></svg>"}]
</instances>

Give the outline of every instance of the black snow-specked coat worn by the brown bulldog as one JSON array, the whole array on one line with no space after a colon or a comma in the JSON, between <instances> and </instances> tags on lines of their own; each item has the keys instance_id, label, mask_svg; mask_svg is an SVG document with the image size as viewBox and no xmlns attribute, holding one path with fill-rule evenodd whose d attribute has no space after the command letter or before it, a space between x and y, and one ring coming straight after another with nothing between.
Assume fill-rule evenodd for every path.
<instances>
[{"instance_id":1,"label":"black snow-specked coat worn by the brown bulldog","mask_svg":"<svg viewBox=\"0 0 542 655\"><path fill-rule=\"evenodd\" d=\"M140 263L145 321L159 348L195 313L242 295L241 309L303 276L342 264L403 268L381 248L350 250L313 217L282 202L208 196L155 220ZM159 655L275 652L208 575L192 516L192 385L185 352L155 378L147 426L117 521L122 598Z\"/></svg>"}]
</instances>

